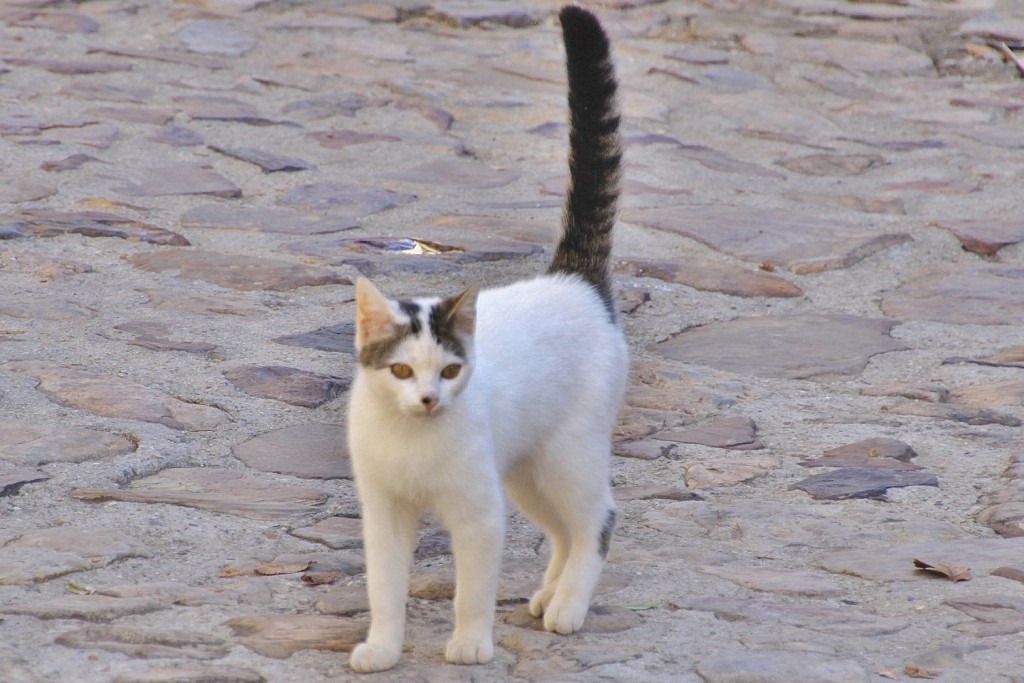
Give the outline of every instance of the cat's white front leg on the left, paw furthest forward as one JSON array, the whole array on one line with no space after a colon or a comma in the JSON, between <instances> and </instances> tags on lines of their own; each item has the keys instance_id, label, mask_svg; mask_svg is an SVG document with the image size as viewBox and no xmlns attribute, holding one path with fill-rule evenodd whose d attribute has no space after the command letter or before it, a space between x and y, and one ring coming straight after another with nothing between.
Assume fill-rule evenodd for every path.
<instances>
[{"instance_id":1,"label":"cat's white front leg on the left, paw furthest forward","mask_svg":"<svg viewBox=\"0 0 1024 683\"><path fill-rule=\"evenodd\" d=\"M406 639L406 598L419 516L386 493L360 490L362 542L367 556L370 633L348 658L352 671L390 669Z\"/></svg>"}]
</instances>

